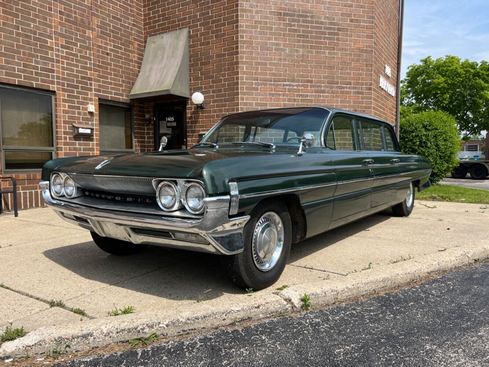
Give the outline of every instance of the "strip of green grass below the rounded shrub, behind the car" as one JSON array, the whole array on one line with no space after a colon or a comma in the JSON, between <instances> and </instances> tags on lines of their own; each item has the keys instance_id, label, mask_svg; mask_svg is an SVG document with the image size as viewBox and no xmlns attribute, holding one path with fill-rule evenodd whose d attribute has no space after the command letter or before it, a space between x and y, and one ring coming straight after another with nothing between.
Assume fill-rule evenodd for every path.
<instances>
[{"instance_id":1,"label":"strip of green grass below the rounded shrub, behind the car","mask_svg":"<svg viewBox=\"0 0 489 367\"><path fill-rule=\"evenodd\" d=\"M416 199L452 203L489 204L489 191L453 185L435 185L422 192L416 192Z\"/></svg>"}]
</instances>

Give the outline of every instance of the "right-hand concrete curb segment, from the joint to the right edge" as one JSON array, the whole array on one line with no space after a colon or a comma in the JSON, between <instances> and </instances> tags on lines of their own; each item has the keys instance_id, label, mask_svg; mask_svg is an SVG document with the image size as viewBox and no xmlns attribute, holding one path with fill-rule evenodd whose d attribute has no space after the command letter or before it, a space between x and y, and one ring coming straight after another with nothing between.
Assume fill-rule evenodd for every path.
<instances>
[{"instance_id":1,"label":"right-hand concrete curb segment, from the joint to the right edge","mask_svg":"<svg viewBox=\"0 0 489 367\"><path fill-rule=\"evenodd\" d=\"M304 294L311 298L312 306L325 306L334 302L396 288L428 275L471 264L474 259L479 258L482 260L488 256L489 245L429 253L418 259L361 271L345 277L335 278L334 281L292 286L281 291L279 296L286 299L292 305L294 311L301 309L303 302L300 298Z\"/></svg>"}]
</instances>

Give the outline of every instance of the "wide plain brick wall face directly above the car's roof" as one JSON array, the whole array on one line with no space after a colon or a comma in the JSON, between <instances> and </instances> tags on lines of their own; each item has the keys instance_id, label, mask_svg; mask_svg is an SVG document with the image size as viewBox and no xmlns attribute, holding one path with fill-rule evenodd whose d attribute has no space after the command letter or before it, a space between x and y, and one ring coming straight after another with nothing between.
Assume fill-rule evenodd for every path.
<instances>
[{"instance_id":1,"label":"wide plain brick wall face directly above the car's roof","mask_svg":"<svg viewBox=\"0 0 489 367\"><path fill-rule=\"evenodd\" d=\"M240 104L370 114L374 1L240 1Z\"/></svg>"}]
</instances>

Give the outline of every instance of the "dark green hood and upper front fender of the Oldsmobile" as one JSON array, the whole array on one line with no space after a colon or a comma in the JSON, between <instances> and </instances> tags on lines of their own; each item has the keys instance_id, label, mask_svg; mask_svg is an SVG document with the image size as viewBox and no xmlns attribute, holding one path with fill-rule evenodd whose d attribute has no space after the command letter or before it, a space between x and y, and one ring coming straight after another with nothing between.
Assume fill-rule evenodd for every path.
<instances>
[{"instance_id":1,"label":"dark green hood and upper front fender of the Oldsmobile","mask_svg":"<svg viewBox=\"0 0 489 367\"><path fill-rule=\"evenodd\" d=\"M250 177L305 174L331 165L320 148L298 155L297 147L194 148L163 152L70 157L48 161L43 180L53 171L113 176L202 180L209 195L229 192L228 183Z\"/></svg>"}]
</instances>

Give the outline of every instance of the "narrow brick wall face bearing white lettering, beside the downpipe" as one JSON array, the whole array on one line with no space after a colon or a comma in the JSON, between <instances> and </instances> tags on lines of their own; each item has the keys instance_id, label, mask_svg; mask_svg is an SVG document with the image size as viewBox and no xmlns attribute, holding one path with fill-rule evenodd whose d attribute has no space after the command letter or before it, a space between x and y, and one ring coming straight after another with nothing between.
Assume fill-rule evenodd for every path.
<instances>
[{"instance_id":1,"label":"narrow brick wall face bearing white lettering, beside the downpipe","mask_svg":"<svg viewBox=\"0 0 489 367\"><path fill-rule=\"evenodd\" d=\"M397 86L398 33L399 1L376 0L372 115L392 123L396 122L396 97L381 89L379 83L382 75L394 87ZM392 69L391 77L385 74L385 65Z\"/></svg>"}]
</instances>

